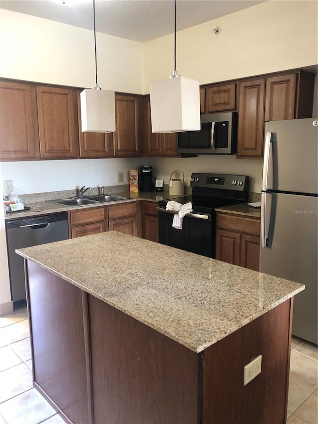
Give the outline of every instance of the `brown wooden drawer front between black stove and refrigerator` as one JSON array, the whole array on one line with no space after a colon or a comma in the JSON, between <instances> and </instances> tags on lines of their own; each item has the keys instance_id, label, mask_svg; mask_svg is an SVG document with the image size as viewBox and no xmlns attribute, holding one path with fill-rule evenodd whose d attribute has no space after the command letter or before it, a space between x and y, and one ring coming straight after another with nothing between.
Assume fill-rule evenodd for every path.
<instances>
[{"instance_id":1,"label":"brown wooden drawer front between black stove and refrigerator","mask_svg":"<svg viewBox=\"0 0 318 424\"><path fill-rule=\"evenodd\" d=\"M258 218L217 213L217 227L255 236L260 235L260 220Z\"/></svg>"}]
</instances>

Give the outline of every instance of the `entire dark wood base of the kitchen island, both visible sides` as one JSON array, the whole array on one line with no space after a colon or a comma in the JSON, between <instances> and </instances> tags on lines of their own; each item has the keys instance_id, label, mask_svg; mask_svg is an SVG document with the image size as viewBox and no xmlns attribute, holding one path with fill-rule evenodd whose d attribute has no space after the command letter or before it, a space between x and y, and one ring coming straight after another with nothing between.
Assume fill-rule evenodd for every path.
<instances>
[{"instance_id":1,"label":"entire dark wood base of the kitchen island, both visible sides","mask_svg":"<svg viewBox=\"0 0 318 424\"><path fill-rule=\"evenodd\" d=\"M33 384L67 423L286 423L293 299L197 353L33 262L26 269ZM258 355L261 374L243 386Z\"/></svg>"}]
</instances>

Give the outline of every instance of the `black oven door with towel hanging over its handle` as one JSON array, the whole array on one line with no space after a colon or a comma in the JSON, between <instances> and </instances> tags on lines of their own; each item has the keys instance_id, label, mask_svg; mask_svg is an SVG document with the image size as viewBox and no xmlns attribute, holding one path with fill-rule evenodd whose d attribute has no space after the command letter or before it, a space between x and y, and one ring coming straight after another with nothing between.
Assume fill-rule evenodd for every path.
<instances>
[{"instance_id":1,"label":"black oven door with towel hanging over its handle","mask_svg":"<svg viewBox=\"0 0 318 424\"><path fill-rule=\"evenodd\" d=\"M159 243L187 252L215 257L215 213L185 215L182 230L172 227L173 211L158 207Z\"/></svg>"}]
</instances>

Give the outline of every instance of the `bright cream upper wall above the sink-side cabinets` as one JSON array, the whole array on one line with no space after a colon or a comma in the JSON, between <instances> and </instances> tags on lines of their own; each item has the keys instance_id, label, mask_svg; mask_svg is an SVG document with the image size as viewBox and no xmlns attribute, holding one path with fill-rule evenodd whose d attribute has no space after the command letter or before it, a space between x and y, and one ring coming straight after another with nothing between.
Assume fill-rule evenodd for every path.
<instances>
[{"instance_id":1,"label":"bright cream upper wall above the sink-side cabinets","mask_svg":"<svg viewBox=\"0 0 318 424\"><path fill-rule=\"evenodd\" d=\"M95 85L93 32L0 9L0 77L40 83ZM4 41L5 40L5 41ZM96 34L98 85L143 93L143 45Z\"/></svg>"}]
</instances>

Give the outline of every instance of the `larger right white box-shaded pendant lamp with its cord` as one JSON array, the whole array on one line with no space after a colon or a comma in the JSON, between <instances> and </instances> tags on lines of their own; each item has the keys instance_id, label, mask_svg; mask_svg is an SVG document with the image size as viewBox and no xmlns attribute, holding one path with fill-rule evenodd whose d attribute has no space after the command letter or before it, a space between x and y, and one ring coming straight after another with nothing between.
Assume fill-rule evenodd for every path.
<instances>
[{"instance_id":1,"label":"larger right white box-shaded pendant lamp with its cord","mask_svg":"<svg viewBox=\"0 0 318 424\"><path fill-rule=\"evenodd\" d=\"M199 82L176 71L176 0L174 0L174 71L167 80L150 83L153 133L196 131L200 124Z\"/></svg>"}]
</instances>

